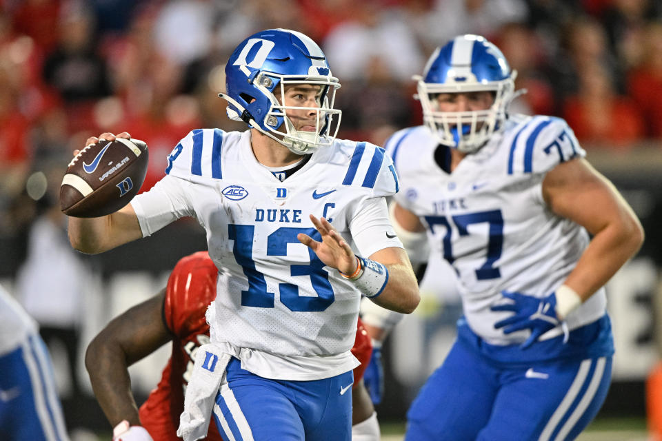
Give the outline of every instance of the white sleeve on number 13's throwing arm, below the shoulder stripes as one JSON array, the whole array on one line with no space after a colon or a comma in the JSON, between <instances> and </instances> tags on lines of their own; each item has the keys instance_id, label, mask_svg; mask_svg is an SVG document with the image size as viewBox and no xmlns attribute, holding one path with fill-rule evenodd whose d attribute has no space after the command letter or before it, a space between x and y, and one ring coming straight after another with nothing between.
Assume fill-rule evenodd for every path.
<instances>
[{"instance_id":1,"label":"white sleeve on number 13's throwing arm, below the shoulder stripes","mask_svg":"<svg viewBox=\"0 0 662 441\"><path fill-rule=\"evenodd\" d=\"M188 191L192 183L166 175L149 192L133 198L131 205L138 217L143 237L184 216L194 216Z\"/></svg>"}]
</instances>

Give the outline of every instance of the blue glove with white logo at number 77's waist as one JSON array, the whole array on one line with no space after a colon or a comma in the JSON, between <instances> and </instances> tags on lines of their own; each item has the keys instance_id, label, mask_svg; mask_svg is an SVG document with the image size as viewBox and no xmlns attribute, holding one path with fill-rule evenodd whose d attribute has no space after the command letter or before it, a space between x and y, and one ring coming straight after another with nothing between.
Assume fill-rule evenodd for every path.
<instances>
[{"instance_id":1,"label":"blue glove with white logo at number 77's waist","mask_svg":"<svg viewBox=\"0 0 662 441\"><path fill-rule=\"evenodd\" d=\"M494 323L494 328L503 328L503 334L531 329L531 336L523 343L522 349L530 347L545 332L561 325L561 320L556 317L556 294L552 293L543 298L525 296L519 292L501 291L501 294L512 302L494 305L490 309L512 311L514 314Z\"/></svg>"}]
</instances>

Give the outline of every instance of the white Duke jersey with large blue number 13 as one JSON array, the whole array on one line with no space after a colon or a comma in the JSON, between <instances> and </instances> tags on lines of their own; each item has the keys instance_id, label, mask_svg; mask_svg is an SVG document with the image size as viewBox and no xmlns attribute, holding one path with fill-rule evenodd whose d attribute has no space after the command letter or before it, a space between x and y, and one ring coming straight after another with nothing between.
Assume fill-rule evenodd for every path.
<instances>
[{"instance_id":1,"label":"white Duke jersey with large blue number 13","mask_svg":"<svg viewBox=\"0 0 662 441\"><path fill-rule=\"evenodd\" d=\"M252 153L250 131L194 130L168 156L165 176L132 201L143 235L181 216L207 231L219 268L208 311L212 342L265 378L312 380L357 366L361 295L325 267L297 234L320 240L324 216L357 254L402 247L383 196L397 192L390 157L370 143L337 140L285 181Z\"/></svg>"}]
</instances>

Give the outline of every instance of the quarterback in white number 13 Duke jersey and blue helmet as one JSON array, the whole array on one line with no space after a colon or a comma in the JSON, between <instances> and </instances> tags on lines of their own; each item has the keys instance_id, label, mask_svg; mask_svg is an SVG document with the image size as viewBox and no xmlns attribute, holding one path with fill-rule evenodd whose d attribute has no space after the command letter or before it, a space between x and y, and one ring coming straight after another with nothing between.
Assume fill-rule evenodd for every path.
<instances>
[{"instance_id":1,"label":"quarterback in white number 13 Duke jersey and blue helmet","mask_svg":"<svg viewBox=\"0 0 662 441\"><path fill-rule=\"evenodd\" d=\"M397 175L380 147L335 139L340 83L305 35L251 35L225 76L228 115L250 130L193 130L149 192L108 216L70 218L70 241L104 252L183 216L207 230L217 297L184 440L205 435L212 413L223 438L349 440L361 296L403 313L419 302L385 203Z\"/></svg>"}]
</instances>

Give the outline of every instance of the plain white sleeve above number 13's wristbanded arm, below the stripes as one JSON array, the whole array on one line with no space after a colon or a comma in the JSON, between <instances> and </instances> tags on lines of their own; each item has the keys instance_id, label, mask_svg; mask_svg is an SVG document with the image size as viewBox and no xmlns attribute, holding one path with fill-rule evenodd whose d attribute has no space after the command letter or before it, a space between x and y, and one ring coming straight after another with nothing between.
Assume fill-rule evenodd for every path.
<instances>
[{"instance_id":1,"label":"plain white sleeve above number 13's wristbanded arm, below the stripes","mask_svg":"<svg viewBox=\"0 0 662 441\"><path fill-rule=\"evenodd\" d=\"M388 247L403 247L388 219L385 198L365 198L358 204L359 209L349 226L352 240L362 257L370 257L374 252Z\"/></svg>"}]
</instances>

